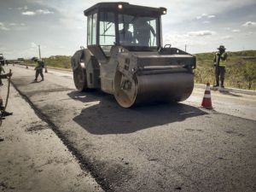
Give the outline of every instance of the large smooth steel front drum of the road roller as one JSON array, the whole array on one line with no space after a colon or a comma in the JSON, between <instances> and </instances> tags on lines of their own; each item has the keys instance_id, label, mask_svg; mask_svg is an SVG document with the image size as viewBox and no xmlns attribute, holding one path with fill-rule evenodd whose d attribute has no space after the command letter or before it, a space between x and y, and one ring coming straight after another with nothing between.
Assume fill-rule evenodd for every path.
<instances>
[{"instance_id":1,"label":"large smooth steel front drum of the road roller","mask_svg":"<svg viewBox=\"0 0 256 192\"><path fill-rule=\"evenodd\" d=\"M117 71L114 79L115 99L124 108L148 102L182 102L193 88L192 73L134 75L128 79Z\"/></svg>"}]
</instances>

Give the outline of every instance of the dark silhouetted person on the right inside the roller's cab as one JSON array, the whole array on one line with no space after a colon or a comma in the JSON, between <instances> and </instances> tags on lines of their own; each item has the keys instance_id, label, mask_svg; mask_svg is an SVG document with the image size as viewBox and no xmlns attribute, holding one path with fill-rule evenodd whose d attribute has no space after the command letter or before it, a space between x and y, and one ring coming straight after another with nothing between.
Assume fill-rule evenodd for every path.
<instances>
[{"instance_id":1,"label":"dark silhouetted person on the right inside the roller's cab","mask_svg":"<svg viewBox=\"0 0 256 192\"><path fill-rule=\"evenodd\" d=\"M153 26L150 26L148 24L147 20L144 20L143 18L139 18L134 23L134 38L137 39L138 44L140 46L148 47L151 44L149 44L149 40L151 37L151 33L153 33L154 37L156 36Z\"/></svg>"}]
</instances>

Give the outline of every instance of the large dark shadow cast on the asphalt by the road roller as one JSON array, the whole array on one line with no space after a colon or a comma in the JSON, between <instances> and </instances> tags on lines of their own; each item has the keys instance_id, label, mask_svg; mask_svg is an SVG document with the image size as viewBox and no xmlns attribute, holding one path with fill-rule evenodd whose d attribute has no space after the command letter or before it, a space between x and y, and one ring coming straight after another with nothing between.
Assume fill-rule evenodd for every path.
<instances>
[{"instance_id":1,"label":"large dark shadow cast on the asphalt by the road roller","mask_svg":"<svg viewBox=\"0 0 256 192\"><path fill-rule=\"evenodd\" d=\"M85 104L85 108L73 120L96 135L131 133L207 114L200 108L183 103L154 103L121 108L113 96L97 90L86 93L72 91L67 95ZM98 103L92 106L88 103L86 107L86 102Z\"/></svg>"}]
</instances>

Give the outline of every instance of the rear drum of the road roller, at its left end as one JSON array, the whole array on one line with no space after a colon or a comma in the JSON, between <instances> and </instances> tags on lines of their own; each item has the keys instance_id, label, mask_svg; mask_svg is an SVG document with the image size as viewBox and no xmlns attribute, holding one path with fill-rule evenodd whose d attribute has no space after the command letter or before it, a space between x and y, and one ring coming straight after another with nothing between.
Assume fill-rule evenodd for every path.
<instances>
[{"instance_id":1,"label":"rear drum of the road roller, at its left end","mask_svg":"<svg viewBox=\"0 0 256 192\"><path fill-rule=\"evenodd\" d=\"M79 91L88 90L86 70L80 65L73 71L73 81Z\"/></svg>"}]
</instances>

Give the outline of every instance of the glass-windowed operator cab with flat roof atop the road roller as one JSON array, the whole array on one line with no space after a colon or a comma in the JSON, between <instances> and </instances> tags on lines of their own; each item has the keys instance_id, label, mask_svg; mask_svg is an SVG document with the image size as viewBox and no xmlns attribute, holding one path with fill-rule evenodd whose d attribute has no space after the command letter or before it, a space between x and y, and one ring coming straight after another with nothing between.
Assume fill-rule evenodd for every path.
<instances>
[{"instance_id":1,"label":"glass-windowed operator cab with flat roof atop the road roller","mask_svg":"<svg viewBox=\"0 0 256 192\"><path fill-rule=\"evenodd\" d=\"M165 14L165 8L97 3L84 11L88 16L87 44L101 45L102 49L113 45L158 47L160 15Z\"/></svg>"}]
</instances>

